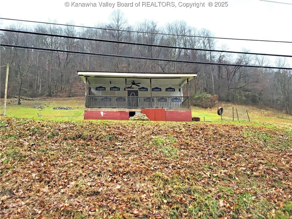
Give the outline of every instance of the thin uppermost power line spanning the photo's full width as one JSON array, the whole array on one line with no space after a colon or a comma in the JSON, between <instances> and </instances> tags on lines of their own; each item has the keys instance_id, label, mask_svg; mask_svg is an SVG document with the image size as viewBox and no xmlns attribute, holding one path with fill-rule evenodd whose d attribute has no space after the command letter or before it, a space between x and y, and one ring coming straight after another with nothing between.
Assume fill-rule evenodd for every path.
<instances>
[{"instance_id":1,"label":"thin uppermost power line spanning the photo's full width","mask_svg":"<svg viewBox=\"0 0 292 219\"><path fill-rule=\"evenodd\" d=\"M246 40L246 41L263 41L263 42L276 42L276 43L292 43L291 41L275 41L275 40L260 40L260 39L239 39L239 38L227 38L227 37L211 37L211 36L193 36L193 35L181 35L181 34L154 33L154 32L143 32L143 31L134 31L134 30L118 30L118 29L111 29L111 28L87 27L87 26L80 26L80 25L59 24L59 23L40 22L40 21L32 21L32 20L19 20L19 19L12 19L12 18L0 18L0 19L15 20L15 21L24 21L24 22L33 22L33 23L41 23L41 24L61 25L61 26L68 26L68 27L82 27L82 28L91 28L91 29L101 29L101 30L121 31L121 32L142 33L142 34L158 34L158 35L168 35L168 36L186 36L186 37L199 37L199 38L211 38L211 39L230 39L230 40Z\"/></svg>"}]
</instances>

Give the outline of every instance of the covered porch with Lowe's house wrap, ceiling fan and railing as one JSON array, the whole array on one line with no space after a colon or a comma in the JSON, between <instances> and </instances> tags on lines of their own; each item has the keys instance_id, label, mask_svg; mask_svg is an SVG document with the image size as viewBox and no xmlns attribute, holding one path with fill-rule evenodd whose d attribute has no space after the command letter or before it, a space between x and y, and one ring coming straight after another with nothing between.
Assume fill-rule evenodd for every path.
<instances>
[{"instance_id":1,"label":"covered porch with Lowe's house wrap, ceiling fan and railing","mask_svg":"<svg viewBox=\"0 0 292 219\"><path fill-rule=\"evenodd\" d=\"M86 108L189 108L189 81L197 74L78 72ZM187 84L187 95L182 87Z\"/></svg>"}]
</instances>

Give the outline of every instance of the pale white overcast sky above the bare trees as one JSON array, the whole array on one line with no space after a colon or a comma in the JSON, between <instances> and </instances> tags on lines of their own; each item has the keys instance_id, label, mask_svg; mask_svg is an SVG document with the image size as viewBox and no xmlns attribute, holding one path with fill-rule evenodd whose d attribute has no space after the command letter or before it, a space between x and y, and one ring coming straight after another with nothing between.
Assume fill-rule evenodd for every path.
<instances>
[{"instance_id":1,"label":"pale white overcast sky above the bare trees","mask_svg":"<svg viewBox=\"0 0 292 219\"><path fill-rule=\"evenodd\" d=\"M209 29L215 37L292 41L292 0L275 1L288 4L260 0L225 0L220 2L220 7L219 4L215 7L216 2L213 0L170 0L170 6L164 7L163 5L167 4L167 1L161 0L2 0L0 16L1 18L42 22L56 20L58 23L66 23L73 21L75 25L94 26L98 23L109 22L110 14L114 10L120 9L130 25L137 25L137 22L142 22L145 19L157 22L158 26L183 20L196 29ZM131 4L130 6L118 6L118 2L121 4L133 3L133 6ZM74 6L79 3L89 3L89 6ZM101 7L100 4L104 3L107 5ZM151 5L151 3L158 7L147 7L147 4ZM197 5L199 7L196 7ZM15 21L0 20L1 28L12 23ZM23 24L35 25L28 22L23 22ZM225 48L230 51L247 49L255 53L292 55L292 43L217 40L217 48L221 48L221 45L225 45ZM275 58L268 58L271 60L270 65L274 65ZM292 58L287 58L286 63L292 67Z\"/></svg>"}]
</instances>

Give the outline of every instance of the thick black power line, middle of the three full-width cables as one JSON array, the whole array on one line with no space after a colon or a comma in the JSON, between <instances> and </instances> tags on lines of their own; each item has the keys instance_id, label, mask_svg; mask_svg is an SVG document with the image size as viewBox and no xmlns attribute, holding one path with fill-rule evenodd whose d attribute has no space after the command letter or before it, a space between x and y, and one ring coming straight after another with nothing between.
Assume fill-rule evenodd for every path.
<instances>
[{"instance_id":1,"label":"thick black power line, middle of the three full-width cables","mask_svg":"<svg viewBox=\"0 0 292 219\"><path fill-rule=\"evenodd\" d=\"M70 39L81 39L81 40L99 41L99 42L107 42L107 43L129 44L129 45L135 45L135 46L153 46L153 47L160 47L160 48L186 49L186 50L220 52L220 53L238 53L238 54L248 54L248 55L292 57L292 55L277 55L277 54L267 54L267 53L248 53L248 52L224 51L224 50L213 50L213 49L187 48L187 47L178 47L178 46L164 46L164 45L156 45L156 44L132 43L132 42L123 42L123 41L115 41L115 40L105 40L105 39L92 39L92 38L86 38L86 37L66 36L66 35L59 35L59 34L37 33L37 32L22 31L22 30L11 30L11 29L0 29L0 30L7 31L7 32L41 35L41 36L55 36L55 37L63 37L63 38L70 38Z\"/></svg>"}]
</instances>

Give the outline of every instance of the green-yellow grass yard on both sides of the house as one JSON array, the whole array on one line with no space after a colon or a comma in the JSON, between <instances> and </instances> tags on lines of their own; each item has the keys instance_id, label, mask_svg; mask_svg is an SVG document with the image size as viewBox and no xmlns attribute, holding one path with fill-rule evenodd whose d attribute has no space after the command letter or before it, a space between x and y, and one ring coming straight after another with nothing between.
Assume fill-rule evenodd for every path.
<instances>
[{"instance_id":1,"label":"green-yellow grass yard on both sides of the house","mask_svg":"<svg viewBox=\"0 0 292 219\"><path fill-rule=\"evenodd\" d=\"M84 117L84 98L39 98L39 101L22 100L21 105L17 105L15 98L8 99L6 110L7 116L22 117L22 118L37 118L37 114L41 114L44 119L58 119L58 120L82 120ZM44 106L45 109L34 109L33 105ZM69 106L72 110L54 110L53 107ZM201 118L201 121L219 122L221 117L217 114L217 108L222 106L223 122L232 121L232 107L234 107L234 121L238 121L236 109L239 115L239 121L248 121L246 109L248 110L250 120L252 122L271 123L279 125L292 125L292 116L287 115L281 111L266 108L259 109L252 106L232 105L228 103L219 103L218 106L212 109L203 109L199 107L192 107L192 116ZM3 112L3 99L1 99L1 112Z\"/></svg>"}]
</instances>

